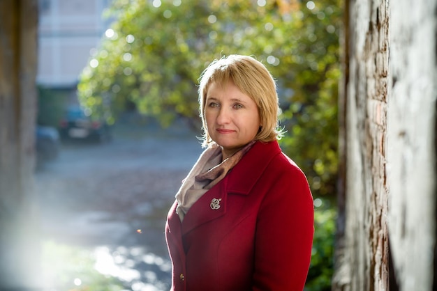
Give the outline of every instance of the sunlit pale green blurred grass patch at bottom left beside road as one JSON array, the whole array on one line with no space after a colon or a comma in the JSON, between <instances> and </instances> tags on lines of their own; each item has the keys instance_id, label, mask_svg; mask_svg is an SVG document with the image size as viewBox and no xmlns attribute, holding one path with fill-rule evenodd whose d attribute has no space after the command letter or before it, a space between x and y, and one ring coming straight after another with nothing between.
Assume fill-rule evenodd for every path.
<instances>
[{"instance_id":1,"label":"sunlit pale green blurred grass patch at bottom left beside road","mask_svg":"<svg viewBox=\"0 0 437 291\"><path fill-rule=\"evenodd\" d=\"M99 273L91 251L52 241L43 243L44 290L119 291L126 286Z\"/></svg>"}]
</instances>

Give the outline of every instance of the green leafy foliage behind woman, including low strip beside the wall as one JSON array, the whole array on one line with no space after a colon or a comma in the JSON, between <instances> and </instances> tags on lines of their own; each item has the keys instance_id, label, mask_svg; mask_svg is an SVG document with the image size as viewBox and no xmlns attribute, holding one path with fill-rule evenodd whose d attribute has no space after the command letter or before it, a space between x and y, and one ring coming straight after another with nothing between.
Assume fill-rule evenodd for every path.
<instances>
[{"instance_id":1,"label":"green leafy foliage behind woman, including low strip beside the wall","mask_svg":"<svg viewBox=\"0 0 437 291\"><path fill-rule=\"evenodd\" d=\"M107 118L134 105L162 125L182 116L199 129L200 73L221 56L254 56L277 80L281 126L288 132L281 147L306 173L314 197L333 201L342 3L114 0L108 17L117 20L82 72L80 100ZM332 272L327 257L316 258L332 255L327 249L332 248L334 210L325 215L316 214L323 223L316 228L309 281L319 280L320 289L311 290L325 290Z\"/></svg>"}]
</instances>

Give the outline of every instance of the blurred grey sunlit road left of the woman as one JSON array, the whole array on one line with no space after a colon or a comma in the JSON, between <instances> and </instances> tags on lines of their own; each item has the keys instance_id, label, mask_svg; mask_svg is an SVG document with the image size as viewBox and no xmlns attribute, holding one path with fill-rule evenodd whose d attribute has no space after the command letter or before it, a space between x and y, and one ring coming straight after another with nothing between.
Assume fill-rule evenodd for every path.
<instances>
[{"instance_id":1,"label":"blurred grey sunlit road left of the woman","mask_svg":"<svg viewBox=\"0 0 437 291\"><path fill-rule=\"evenodd\" d=\"M90 251L99 272L131 290L168 290L165 217L201 151L184 125L63 144L35 174L43 240Z\"/></svg>"}]
</instances>

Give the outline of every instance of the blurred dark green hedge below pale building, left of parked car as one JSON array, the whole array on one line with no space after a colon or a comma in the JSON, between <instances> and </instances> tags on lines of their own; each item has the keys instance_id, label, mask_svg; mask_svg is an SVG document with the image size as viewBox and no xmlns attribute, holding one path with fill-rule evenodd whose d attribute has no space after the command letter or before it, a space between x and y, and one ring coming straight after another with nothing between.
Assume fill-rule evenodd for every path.
<instances>
[{"instance_id":1,"label":"blurred dark green hedge below pale building, left of parked car","mask_svg":"<svg viewBox=\"0 0 437 291\"><path fill-rule=\"evenodd\" d=\"M38 86L38 125L58 127L70 91Z\"/></svg>"}]
</instances>

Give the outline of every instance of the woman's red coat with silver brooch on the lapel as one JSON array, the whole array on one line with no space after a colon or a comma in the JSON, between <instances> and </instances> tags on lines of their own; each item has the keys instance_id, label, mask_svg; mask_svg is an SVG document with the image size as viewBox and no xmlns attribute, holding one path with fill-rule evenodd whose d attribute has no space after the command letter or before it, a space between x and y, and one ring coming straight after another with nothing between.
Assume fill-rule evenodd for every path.
<instances>
[{"instance_id":1,"label":"woman's red coat with silver brooch on the lapel","mask_svg":"<svg viewBox=\"0 0 437 291\"><path fill-rule=\"evenodd\" d=\"M212 200L221 199L218 209ZM257 142L165 238L174 291L303 290L313 242L304 173L276 141ZM217 208L217 207L215 207Z\"/></svg>"}]
</instances>

